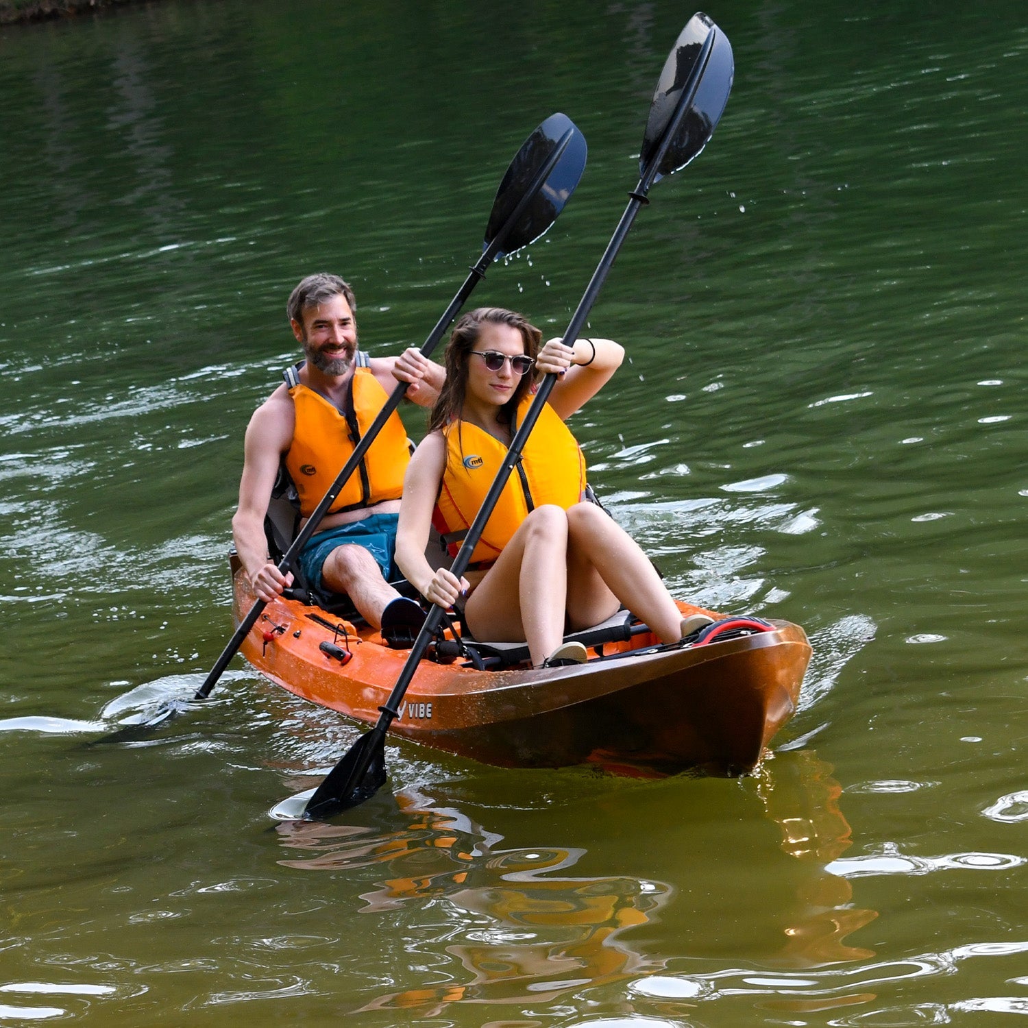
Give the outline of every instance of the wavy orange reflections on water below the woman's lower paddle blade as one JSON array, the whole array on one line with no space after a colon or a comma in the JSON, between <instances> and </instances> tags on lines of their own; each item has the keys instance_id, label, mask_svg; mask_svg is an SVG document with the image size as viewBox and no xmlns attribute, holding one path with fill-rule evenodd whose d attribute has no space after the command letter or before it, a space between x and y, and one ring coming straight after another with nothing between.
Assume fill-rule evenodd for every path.
<instances>
[{"instance_id":1,"label":"wavy orange reflections on water below the woman's lower paddle blade","mask_svg":"<svg viewBox=\"0 0 1028 1028\"><path fill-rule=\"evenodd\" d=\"M453 984L389 993L363 1009L418 1008L433 1017L450 1002L553 998L659 965L620 937L667 902L665 882L567 875L584 850L502 848L501 836L416 790L396 799L404 824L393 831L303 821L280 827L283 845L316 851L283 860L288 867L384 866L388 877L361 897L363 912L427 901L448 911L440 933L464 968L447 976Z\"/></svg>"}]
</instances>

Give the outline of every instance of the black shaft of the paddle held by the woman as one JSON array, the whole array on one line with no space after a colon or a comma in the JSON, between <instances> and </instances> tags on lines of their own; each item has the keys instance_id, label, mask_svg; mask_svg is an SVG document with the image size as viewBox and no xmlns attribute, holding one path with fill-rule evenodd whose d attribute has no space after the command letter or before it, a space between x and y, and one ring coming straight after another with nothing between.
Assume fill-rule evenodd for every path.
<instances>
[{"instance_id":1,"label":"black shaft of the paddle held by the woman","mask_svg":"<svg viewBox=\"0 0 1028 1028\"><path fill-rule=\"evenodd\" d=\"M663 159L664 153L670 145L671 140L673 139L674 133L677 130L682 118L685 116L690 104L692 104L697 88L699 87L699 81L702 78L703 70L706 67L706 62L709 59L710 50L712 48L712 37L713 33L711 32L710 36L704 42L704 48L699 58L699 72L694 78L692 87L688 90L683 90L683 95L678 99L674 115L668 123L664 138L661 141L661 145L654 152L650 163L647 166L642 177L638 181L638 184L628 194L628 206L625 208L625 212L622 214L621 220L618 222L618 227L611 236L611 242L607 245L607 250L603 252L603 256L600 258L599 264L596 266L596 270L593 271L592 279L590 279L589 285L586 287L585 294L579 301L579 305L575 310L575 314L572 316L566 332L564 332L562 341L565 345L574 344L575 340L578 338L578 334L585 325L586 319L589 317L589 311L592 310L592 306L596 302L596 297L599 296L599 291L602 288L603 283L607 281L607 276L614 266L614 261L618 256L618 251L624 244L625 238L635 221L635 216L638 214L642 205L649 203L647 199L647 193L650 191L650 187L653 185L654 180L657 177L660 162ZM514 466L521 457L521 452L524 449L525 443L528 441L528 436L531 434L531 430L535 428L536 421L539 420L539 416L543 412L543 406L546 404L547 398L556 383L556 380L557 376L555 374L548 374L543 379L543 382L539 388L539 392L536 394L535 399L531 401L531 405L528 407L524 420L518 427L514 438L511 440L510 448L507 450L507 454L504 456L500 470L497 472L497 476L492 480L492 484L489 486L489 491L485 494L485 500L482 502L482 506L479 508L478 514L475 515L475 520L468 529L468 535L465 537L464 542L461 545L461 549L457 555L453 558L453 563L450 565L450 572L452 572L452 574L458 579L468 570L468 564L471 562L471 555L474 552L475 547L478 545L478 541L481 539L482 533L485 530L486 522L492 515L492 511L500 500L500 494L503 492L508 478L510 478L511 472L514 470ZM407 656L407 661L403 666L403 670L400 672L400 677L393 687L393 692L390 693L390 697L386 701L384 705L378 708L380 714L378 721L375 722L374 728L371 729L372 733L384 738L390 725L399 715L400 702L403 700L404 694L407 692L407 687L410 685L410 682L414 676L417 664L428 651L429 644L435 635L435 631L442 620L442 608L433 604L428 618L425 620L425 624L417 633L414 646L411 649L410 654ZM360 774L366 770L367 765L371 762L371 756L373 755L374 748L375 746L372 743L369 743L365 747L364 752L367 757L367 762L365 763L364 768L361 768L359 765L355 767L353 775L354 779L358 778Z\"/></svg>"}]
</instances>

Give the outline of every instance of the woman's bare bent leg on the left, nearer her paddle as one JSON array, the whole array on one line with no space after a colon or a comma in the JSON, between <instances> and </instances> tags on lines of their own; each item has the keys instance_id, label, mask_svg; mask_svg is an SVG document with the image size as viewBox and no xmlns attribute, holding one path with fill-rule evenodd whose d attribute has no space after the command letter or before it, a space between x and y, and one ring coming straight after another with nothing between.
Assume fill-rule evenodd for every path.
<instances>
[{"instance_id":1,"label":"woman's bare bent leg on the left, nearer her paddle","mask_svg":"<svg viewBox=\"0 0 1028 1028\"><path fill-rule=\"evenodd\" d=\"M464 613L472 633L527 641L534 665L560 645L567 594L567 518L537 507L471 594Z\"/></svg>"}]
</instances>

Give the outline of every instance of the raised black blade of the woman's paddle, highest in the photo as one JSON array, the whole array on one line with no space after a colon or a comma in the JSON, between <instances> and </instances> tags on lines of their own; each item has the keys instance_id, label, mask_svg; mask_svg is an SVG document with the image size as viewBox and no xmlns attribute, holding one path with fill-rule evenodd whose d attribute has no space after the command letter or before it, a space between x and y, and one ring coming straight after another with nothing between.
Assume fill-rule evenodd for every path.
<instances>
[{"instance_id":1,"label":"raised black blade of the woman's paddle, highest in the photo","mask_svg":"<svg viewBox=\"0 0 1028 1028\"><path fill-rule=\"evenodd\" d=\"M709 53L704 54L707 42ZM706 146L728 103L734 74L728 37L706 14L694 14L668 54L653 95L639 151L644 178L669 131L672 137L660 155L654 182L681 171ZM674 124L681 101L694 89L688 108Z\"/></svg>"}]
</instances>

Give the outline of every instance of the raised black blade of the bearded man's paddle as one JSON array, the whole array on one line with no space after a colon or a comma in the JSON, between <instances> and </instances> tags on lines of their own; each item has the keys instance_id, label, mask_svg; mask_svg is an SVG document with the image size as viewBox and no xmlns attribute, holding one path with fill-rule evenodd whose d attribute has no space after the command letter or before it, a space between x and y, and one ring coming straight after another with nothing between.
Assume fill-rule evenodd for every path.
<instances>
[{"instance_id":1,"label":"raised black blade of the bearded man's paddle","mask_svg":"<svg viewBox=\"0 0 1028 1028\"><path fill-rule=\"evenodd\" d=\"M575 192L585 171L585 137L565 114L551 114L524 141L500 183L485 229L483 251L489 248L498 233L505 228L525 193L533 190L539 173L568 132L572 136L563 152L545 181L535 186L534 195L515 224L508 228L494 259L515 253L538 240L557 220L557 215Z\"/></svg>"}]
</instances>

